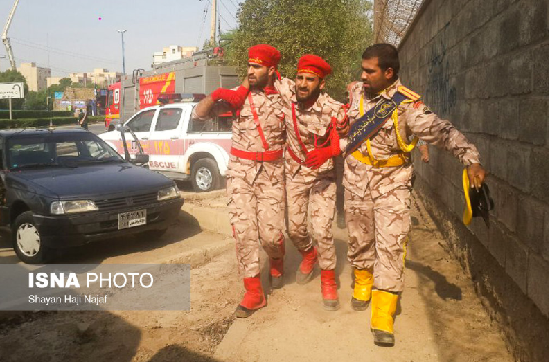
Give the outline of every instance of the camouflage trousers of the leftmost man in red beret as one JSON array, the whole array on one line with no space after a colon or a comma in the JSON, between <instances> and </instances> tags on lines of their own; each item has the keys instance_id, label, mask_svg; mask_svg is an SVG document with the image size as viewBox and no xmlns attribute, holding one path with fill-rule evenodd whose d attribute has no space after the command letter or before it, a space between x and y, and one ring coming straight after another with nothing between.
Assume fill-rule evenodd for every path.
<instances>
[{"instance_id":1,"label":"camouflage trousers of the leftmost man in red beret","mask_svg":"<svg viewBox=\"0 0 550 362\"><path fill-rule=\"evenodd\" d=\"M260 172L254 184L227 177L229 221L237 249L239 273L253 278L260 273L260 245L269 257L285 254L285 185Z\"/></svg>"}]
</instances>

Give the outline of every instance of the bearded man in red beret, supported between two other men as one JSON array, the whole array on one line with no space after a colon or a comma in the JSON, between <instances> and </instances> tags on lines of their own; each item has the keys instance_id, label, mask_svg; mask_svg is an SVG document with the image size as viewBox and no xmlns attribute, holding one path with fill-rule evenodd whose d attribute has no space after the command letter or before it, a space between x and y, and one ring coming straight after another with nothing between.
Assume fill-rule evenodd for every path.
<instances>
[{"instance_id":1,"label":"bearded man in red beret, supported between two other men","mask_svg":"<svg viewBox=\"0 0 550 362\"><path fill-rule=\"evenodd\" d=\"M275 82L275 88L285 104L287 230L303 256L296 282L305 284L311 279L319 251L323 305L335 311L339 300L332 237L336 199L332 156L340 153L338 130L344 134L347 130L342 104L321 93L330 70L321 57L304 55L298 62L296 82L283 78Z\"/></svg>"}]
</instances>

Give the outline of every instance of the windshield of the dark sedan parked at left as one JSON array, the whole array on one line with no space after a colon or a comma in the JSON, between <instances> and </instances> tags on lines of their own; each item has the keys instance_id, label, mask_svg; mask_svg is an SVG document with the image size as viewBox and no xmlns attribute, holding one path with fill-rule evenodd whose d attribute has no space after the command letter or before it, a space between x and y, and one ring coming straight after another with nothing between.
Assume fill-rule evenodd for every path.
<instances>
[{"instance_id":1,"label":"windshield of the dark sedan parked at left","mask_svg":"<svg viewBox=\"0 0 550 362\"><path fill-rule=\"evenodd\" d=\"M15 134L6 149L10 169L124 162L105 141L87 132Z\"/></svg>"}]
</instances>

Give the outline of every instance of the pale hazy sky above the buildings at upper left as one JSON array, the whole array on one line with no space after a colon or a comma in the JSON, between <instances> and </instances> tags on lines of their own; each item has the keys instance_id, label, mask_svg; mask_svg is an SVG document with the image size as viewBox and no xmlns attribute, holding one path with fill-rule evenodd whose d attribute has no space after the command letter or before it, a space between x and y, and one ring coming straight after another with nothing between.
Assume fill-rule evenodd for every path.
<instances>
[{"instance_id":1,"label":"pale hazy sky above the buildings at upper left","mask_svg":"<svg viewBox=\"0 0 550 362\"><path fill-rule=\"evenodd\" d=\"M238 3L218 0L222 32L236 28ZM0 31L12 5L13 0L0 1ZM117 30L127 30L125 66L131 74L133 69L150 69L153 53L163 47L202 48L210 37L211 8L211 0L19 0L8 37L17 66L35 62L51 68L52 76L64 76L94 68L121 72ZM6 48L0 42L2 56ZM9 66L7 57L0 59L0 70Z\"/></svg>"}]
</instances>

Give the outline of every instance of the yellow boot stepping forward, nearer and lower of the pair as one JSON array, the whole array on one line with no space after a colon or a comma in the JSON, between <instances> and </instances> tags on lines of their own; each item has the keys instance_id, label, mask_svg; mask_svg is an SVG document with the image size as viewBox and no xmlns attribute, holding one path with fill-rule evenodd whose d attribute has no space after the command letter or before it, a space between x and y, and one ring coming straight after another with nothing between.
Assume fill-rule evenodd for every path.
<instances>
[{"instance_id":1,"label":"yellow boot stepping forward, nearer and lower of the pair","mask_svg":"<svg viewBox=\"0 0 550 362\"><path fill-rule=\"evenodd\" d=\"M371 305L371 331L375 345L393 346L393 316L396 314L398 294L373 290Z\"/></svg>"}]
</instances>

